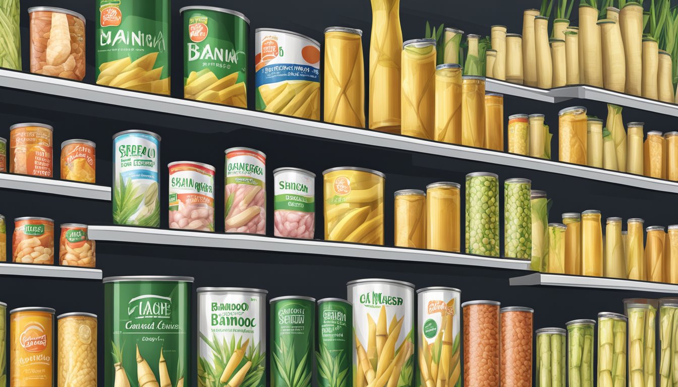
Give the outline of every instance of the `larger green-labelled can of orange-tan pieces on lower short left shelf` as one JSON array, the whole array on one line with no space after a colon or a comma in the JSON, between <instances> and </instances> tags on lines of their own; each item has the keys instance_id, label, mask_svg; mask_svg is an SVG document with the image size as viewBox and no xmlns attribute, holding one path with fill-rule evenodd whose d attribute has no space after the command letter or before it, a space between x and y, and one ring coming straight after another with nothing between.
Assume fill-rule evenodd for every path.
<instances>
[{"instance_id":1,"label":"larger green-labelled can of orange-tan pieces on lower short left shelf","mask_svg":"<svg viewBox=\"0 0 678 387\"><path fill-rule=\"evenodd\" d=\"M15 218L12 260L24 264L54 264L54 220L31 216Z\"/></svg>"}]
</instances>

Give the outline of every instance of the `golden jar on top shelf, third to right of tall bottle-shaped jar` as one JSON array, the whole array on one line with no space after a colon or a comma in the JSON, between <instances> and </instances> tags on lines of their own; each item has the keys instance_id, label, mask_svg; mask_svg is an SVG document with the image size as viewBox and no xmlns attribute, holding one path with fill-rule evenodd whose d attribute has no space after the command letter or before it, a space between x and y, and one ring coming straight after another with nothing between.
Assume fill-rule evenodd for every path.
<instances>
[{"instance_id":1,"label":"golden jar on top shelf, third to right of tall bottle-shaped jar","mask_svg":"<svg viewBox=\"0 0 678 387\"><path fill-rule=\"evenodd\" d=\"M485 77L462 76L462 145L485 145Z\"/></svg>"}]
</instances>

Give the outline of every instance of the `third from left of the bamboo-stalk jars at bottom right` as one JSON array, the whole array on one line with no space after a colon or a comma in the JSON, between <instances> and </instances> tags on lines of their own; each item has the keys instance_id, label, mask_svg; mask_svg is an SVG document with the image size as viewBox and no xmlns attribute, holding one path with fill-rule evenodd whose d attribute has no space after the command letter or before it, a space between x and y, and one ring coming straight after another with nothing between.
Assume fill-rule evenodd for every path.
<instances>
[{"instance_id":1,"label":"third from left of the bamboo-stalk jars at bottom right","mask_svg":"<svg viewBox=\"0 0 678 387\"><path fill-rule=\"evenodd\" d=\"M624 314L598 313L599 387L626 386L626 321Z\"/></svg>"}]
</instances>

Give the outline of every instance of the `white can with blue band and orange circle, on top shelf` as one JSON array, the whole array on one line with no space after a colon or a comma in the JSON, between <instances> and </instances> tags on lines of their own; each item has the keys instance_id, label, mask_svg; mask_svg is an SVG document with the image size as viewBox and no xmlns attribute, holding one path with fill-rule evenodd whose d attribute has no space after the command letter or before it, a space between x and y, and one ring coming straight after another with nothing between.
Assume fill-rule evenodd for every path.
<instances>
[{"instance_id":1,"label":"white can with blue band and orange circle, on top shelf","mask_svg":"<svg viewBox=\"0 0 678 387\"><path fill-rule=\"evenodd\" d=\"M287 30L257 28L256 110L320 119L320 43Z\"/></svg>"}]
</instances>

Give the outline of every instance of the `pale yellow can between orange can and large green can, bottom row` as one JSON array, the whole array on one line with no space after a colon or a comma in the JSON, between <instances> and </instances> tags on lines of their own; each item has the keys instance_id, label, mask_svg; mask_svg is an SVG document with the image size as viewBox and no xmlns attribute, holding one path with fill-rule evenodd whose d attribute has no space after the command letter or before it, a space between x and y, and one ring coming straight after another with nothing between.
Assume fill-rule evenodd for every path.
<instances>
[{"instance_id":1,"label":"pale yellow can between orange can and large green can, bottom row","mask_svg":"<svg viewBox=\"0 0 678 387\"><path fill-rule=\"evenodd\" d=\"M97 318L92 313L56 317L58 331L58 387L97 387Z\"/></svg>"}]
</instances>

